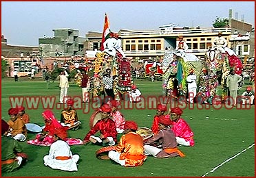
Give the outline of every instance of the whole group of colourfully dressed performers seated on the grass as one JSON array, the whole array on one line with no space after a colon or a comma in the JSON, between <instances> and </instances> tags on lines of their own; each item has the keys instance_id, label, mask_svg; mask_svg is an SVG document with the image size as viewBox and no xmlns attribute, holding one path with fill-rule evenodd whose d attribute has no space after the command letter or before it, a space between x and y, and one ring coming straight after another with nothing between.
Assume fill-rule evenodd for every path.
<instances>
[{"instance_id":1,"label":"whole group of colourfully dressed performers seated on the grass","mask_svg":"<svg viewBox=\"0 0 256 178\"><path fill-rule=\"evenodd\" d=\"M68 138L68 129L78 129L81 122L78 121L76 110L72 107L74 101L67 101L67 110L61 112L61 120L57 120L52 110L42 113L45 126L41 133L37 133L34 140L28 140L26 124L30 123L30 116L25 113L23 106L10 108L8 114L10 120L2 120L2 171L11 172L19 168L23 163L30 161L28 155L23 153L19 142L26 142L38 146L50 147L49 153L43 157L43 164L53 169L77 171L79 155L73 154L70 145L96 144L102 147L115 147L107 153L109 159L121 166L141 166L147 157L153 155L162 157L184 157L179 145L193 147L193 131L180 116L182 110L179 107L170 108L167 114L167 105L158 104L156 116L152 122L152 135L143 138L138 133L138 124L134 120L126 120L118 107L120 102L116 100L104 103L95 112L100 113L100 118L92 123L92 127L85 134L83 140ZM90 120L92 122L95 120ZM78 125L77 125L78 123ZM118 134L120 139L118 140ZM8 154L7 154L8 153ZM21 154L19 154L21 153Z\"/></svg>"}]
</instances>

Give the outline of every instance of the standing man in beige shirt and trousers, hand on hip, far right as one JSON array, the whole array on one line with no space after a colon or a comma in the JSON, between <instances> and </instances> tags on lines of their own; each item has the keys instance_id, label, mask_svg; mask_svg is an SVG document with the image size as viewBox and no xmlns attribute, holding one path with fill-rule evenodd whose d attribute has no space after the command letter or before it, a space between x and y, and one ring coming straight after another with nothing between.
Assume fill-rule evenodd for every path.
<instances>
[{"instance_id":1,"label":"standing man in beige shirt and trousers, hand on hip, far right","mask_svg":"<svg viewBox=\"0 0 256 178\"><path fill-rule=\"evenodd\" d=\"M243 77L240 75L237 75L235 73L235 70L232 68L231 74L228 75L228 77L226 78L226 87L229 89L232 105L237 104L238 84L242 80L243 80Z\"/></svg>"}]
</instances>

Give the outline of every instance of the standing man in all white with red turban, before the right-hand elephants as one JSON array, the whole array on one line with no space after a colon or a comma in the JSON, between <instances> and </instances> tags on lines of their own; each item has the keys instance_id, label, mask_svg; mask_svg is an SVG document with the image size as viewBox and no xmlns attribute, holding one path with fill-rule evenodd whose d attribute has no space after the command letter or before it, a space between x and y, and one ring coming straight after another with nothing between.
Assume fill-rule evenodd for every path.
<instances>
[{"instance_id":1,"label":"standing man in all white with red turban, before the right-hand elephants","mask_svg":"<svg viewBox=\"0 0 256 178\"><path fill-rule=\"evenodd\" d=\"M188 83L188 93L189 93L189 98L187 99L187 101L189 101L189 103L193 103L194 98L197 94L196 75L194 74L193 68L189 70L189 75L188 77L186 77L186 82Z\"/></svg>"}]
</instances>

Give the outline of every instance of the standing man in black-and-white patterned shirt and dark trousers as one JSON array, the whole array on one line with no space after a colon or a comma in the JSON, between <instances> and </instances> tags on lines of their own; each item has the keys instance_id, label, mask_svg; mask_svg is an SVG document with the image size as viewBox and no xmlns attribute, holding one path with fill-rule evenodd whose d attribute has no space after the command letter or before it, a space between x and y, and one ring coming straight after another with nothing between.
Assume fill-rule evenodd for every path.
<instances>
[{"instance_id":1,"label":"standing man in black-and-white patterned shirt and dark trousers","mask_svg":"<svg viewBox=\"0 0 256 178\"><path fill-rule=\"evenodd\" d=\"M103 86L105 91L105 97L110 97L110 100L115 99L114 88L113 88L113 79L111 77L111 70L107 68L106 74L103 77ZM105 102L107 103L107 102Z\"/></svg>"}]
</instances>

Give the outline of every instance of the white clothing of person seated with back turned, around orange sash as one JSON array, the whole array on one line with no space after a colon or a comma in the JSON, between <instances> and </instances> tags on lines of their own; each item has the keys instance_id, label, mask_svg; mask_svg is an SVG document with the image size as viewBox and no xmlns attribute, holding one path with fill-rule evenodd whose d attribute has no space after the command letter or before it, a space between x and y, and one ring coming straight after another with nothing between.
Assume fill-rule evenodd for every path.
<instances>
[{"instance_id":1,"label":"white clothing of person seated with back turned, around orange sash","mask_svg":"<svg viewBox=\"0 0 256 178\"><path fill-rule=\"evenodd\" d=\"M56 160L57 156L71 157L68 160ZM43 157L45 166L50 166L53 169L77 171L76 162L79 160L79 155L72 155L70 146L63 140L57 140L50 146L49 155Z\"/></svg>"}]
</instances>

